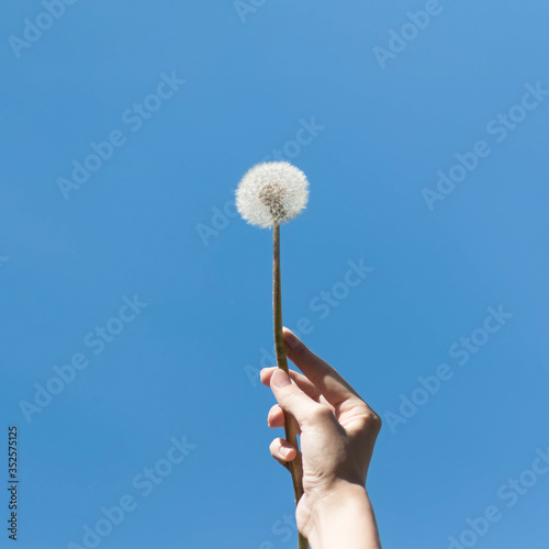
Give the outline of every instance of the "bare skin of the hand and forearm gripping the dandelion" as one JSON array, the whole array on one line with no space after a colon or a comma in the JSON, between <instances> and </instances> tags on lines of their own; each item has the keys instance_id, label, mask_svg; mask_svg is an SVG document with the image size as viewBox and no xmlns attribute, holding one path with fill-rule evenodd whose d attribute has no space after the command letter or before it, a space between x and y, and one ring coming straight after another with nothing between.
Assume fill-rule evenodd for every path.
<instances>
[{"instance_id":1,"label":"bare skin of the hand and forearm gripping the dandelion","mask_svg":"<svg viewBox=\"0 0 549 549\"><path fill-rule=\"evenodd\" d=\"M303 489L295 518L314 549L381 549L366 478L381 419L328 363L284 328L288 358L303 373L264 368L261 382L278 404L267 423L284 426L283 410L298 424L303 459ZM288 468L298 455L282 438L272 457Z\"/></svg>"}]
</instances>

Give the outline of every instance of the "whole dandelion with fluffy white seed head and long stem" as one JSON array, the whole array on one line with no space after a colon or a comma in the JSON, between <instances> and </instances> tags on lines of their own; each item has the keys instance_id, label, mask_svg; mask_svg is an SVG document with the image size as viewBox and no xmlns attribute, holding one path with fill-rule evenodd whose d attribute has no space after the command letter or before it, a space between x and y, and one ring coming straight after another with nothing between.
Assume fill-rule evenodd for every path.
<instances>
[{"instance_id":1,"label":"whole dandelion with fluffy white seed head and long stem","mask_svg":"<svg viewBox=\"0 0 549 549\"><path fill-rule=\"evenodd\" d=\"M280 277L280 224L299 215L307 203L309 181L300 169L289 163L265 163L254 166L236 189L236 208L251 225L272 227L272 313L277 366L285 373L288 360L282 336L282 289ZM290 461L295 505L303 495L303 464L298 446L296 422L284 411L285 439L298 456ZM309 549L301 534L299 549Z\"/></svg>"}]
</instances>

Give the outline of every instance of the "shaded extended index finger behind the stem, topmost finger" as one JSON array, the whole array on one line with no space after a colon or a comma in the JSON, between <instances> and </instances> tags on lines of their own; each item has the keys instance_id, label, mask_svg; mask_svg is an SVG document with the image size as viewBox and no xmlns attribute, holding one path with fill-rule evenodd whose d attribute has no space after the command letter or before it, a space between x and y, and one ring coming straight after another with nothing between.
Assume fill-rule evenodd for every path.
<instances>
[{"instance_id":1,"label":"shaded extended index finger behind the stem, topmost finger","mask_svg":"<svg viewBox=\"0 0 549 549\"><path fill-rule=\"evenodd\" d=\"M283 329L288 358L299 367L334 408L337 410L349 400L356 401L358 399L363 403L358 393L339 376L335 368L316 356L288 328Z\"/></svg>"}]
</instances>

